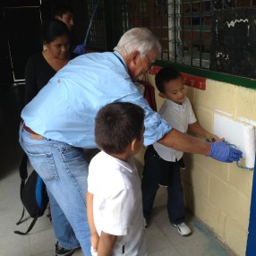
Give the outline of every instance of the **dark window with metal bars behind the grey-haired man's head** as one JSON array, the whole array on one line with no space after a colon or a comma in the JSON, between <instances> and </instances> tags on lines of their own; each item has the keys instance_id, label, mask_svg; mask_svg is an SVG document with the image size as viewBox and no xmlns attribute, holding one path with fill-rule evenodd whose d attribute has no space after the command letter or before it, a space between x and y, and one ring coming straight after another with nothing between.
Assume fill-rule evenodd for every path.
<instances>
[{"instance_id":1,"label":"dark window with metal bars behind the grey-haired man's head","mask_svg":"<svg viewBox=\"0 0 256 256\"><path fill-rule=\"evenodd\" d=\"M91 47L101 41L112 50L126 30L146 27L161 43L158 60L209 69L213 13L256 7L256 0L101 0L100 6Z\"/></svg>"}]
</instances>

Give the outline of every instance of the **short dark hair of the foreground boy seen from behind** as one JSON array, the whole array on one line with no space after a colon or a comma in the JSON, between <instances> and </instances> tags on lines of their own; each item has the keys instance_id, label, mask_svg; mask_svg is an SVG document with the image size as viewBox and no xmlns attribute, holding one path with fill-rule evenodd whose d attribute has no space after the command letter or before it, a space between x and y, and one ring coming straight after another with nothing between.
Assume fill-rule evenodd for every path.
<instances>
[{"instance_id":1,"label":"short dark hair of the foreground boy seen from behind","mask_svg":"<svg viewBox=\"0 0 256 256\"><path fill-rule=\"evenodd\" d=\"M144 110L129 102L102 107L96 116L95 140L107 154L122 154L132 140L141 140Z\"/></svg>"}]
</instances>

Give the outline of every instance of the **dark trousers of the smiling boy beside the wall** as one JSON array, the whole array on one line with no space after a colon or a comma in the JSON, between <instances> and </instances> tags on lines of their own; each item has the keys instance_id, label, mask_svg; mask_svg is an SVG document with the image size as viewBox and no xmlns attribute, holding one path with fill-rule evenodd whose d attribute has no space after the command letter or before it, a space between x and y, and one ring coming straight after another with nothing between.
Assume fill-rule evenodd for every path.
<instances>
[{"instance_id":1,"label":"dark trousers of the smiling boy beside the wall","mask_svg":"<svg viewBox=\"0 0 256 256\"><path fill-rule=\"evenodd\" d=\"M172 224L183 223L183 186L180 176L180 161L169 162L160 158L153 146L149 146L146 150L144 160L145 165L141 180L144 217L150 217L162 174L168 172L166 188L168 218Z\"/></svg>"}]
</instances>

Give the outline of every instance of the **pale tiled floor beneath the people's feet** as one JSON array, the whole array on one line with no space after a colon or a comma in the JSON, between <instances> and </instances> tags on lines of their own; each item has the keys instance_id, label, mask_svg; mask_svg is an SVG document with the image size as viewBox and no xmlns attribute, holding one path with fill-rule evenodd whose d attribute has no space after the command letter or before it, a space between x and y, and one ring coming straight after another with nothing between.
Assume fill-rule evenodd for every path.
<instances>
[{"instance_id":1,"label":"pale tiled floor beneath the people's feet","mask_svg":"<svg viewBox=\"0 0 256 256\"><path fill-rule=\"evenodd\" d=\"M14 171L0 182L0 255L1 256L49 256L54 255L55 236L46 215L38 218L30 235L15 235L13 230L25 231L30 218L20 226L15 223L21 217L19 198L19 174ZM189 218L193 234L183 237L168 223L166 216L166 192L159 190L155 211L146 229L149 256L227 256L228 252L195 218ZM82 256L82 252L73 255Z\"/></svg>"}]
</instances>

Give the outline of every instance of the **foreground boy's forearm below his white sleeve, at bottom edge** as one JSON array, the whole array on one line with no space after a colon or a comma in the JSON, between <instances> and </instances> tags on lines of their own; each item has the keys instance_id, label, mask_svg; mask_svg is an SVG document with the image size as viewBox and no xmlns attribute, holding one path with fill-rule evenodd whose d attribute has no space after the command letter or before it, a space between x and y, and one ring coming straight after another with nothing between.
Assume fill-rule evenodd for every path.
<instances>
[{"instance_id":1,"label":"foreground boy's forearm below his white sleeve, at bottom edge","mask_svg":"<svg viewBox=\"0 0 256 256\"><path fill-rule=\"evenodd\" d=\"M110 256L115 246L116 238L117 235L110 235L101 231L98 242L98 256Z\"/></svg>"}]
</instances>

